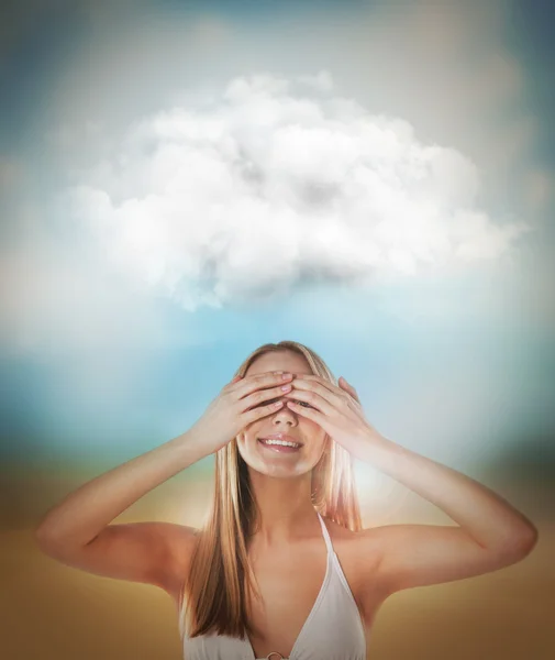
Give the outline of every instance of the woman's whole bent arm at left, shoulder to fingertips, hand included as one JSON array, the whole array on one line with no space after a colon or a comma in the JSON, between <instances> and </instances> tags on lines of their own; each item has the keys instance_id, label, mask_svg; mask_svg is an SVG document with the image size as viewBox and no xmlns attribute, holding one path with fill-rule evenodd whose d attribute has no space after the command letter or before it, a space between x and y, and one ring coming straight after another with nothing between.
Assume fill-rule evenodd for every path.
<instances>
[{"instance_id":1,"label":"woman's whole bent arm at left, shoulder to fingertips, hand included","mask_svg":"<svg viewBox=\"0 0 555 660\"><path fill-rule=\"evenodd\" d=\"M97 476L53 507L35 530L40 548L77 569L147 582L176 596L196 530L169 522L110 522L163 482L219 451L247 424L274 411L276 404L258 404L282 394L279 386L290 378L281 372L235 376L187 432Z\"/></svg>"}]
</instances>

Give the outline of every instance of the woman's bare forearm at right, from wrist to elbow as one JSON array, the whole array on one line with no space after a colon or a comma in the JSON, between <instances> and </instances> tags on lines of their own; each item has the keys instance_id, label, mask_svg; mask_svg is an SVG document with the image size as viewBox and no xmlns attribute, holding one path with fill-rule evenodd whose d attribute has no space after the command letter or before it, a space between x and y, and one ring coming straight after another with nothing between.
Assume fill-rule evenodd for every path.
<instances>
[{"instance_id":1,"label":"woman's bare forearm at right, from wrist to elbow","mask_svg":"<svg viewBox=\"0 0 555 660\"><path fill-rule=\"evenodd\" d=\"M362 459L435 504L484 548L507 552L535 541L525 516L460 472L384 437L364 443Z\"/></svg>"}]
</instances>

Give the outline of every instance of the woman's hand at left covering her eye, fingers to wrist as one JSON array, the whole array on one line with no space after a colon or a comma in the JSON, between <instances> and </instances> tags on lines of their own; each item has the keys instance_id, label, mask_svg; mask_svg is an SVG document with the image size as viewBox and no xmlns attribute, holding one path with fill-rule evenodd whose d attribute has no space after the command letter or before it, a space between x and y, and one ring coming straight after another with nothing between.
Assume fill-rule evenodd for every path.
<instances>
[{"instance_id":1,"label":"woman's hand at left covering her eye, fingers to wrist","mask_svg":"<svg viewBox=\"0 0 555 660\"><path fill-rule=\"evenodd\" d=\"M224 385L188 436L202 447L204 455L217 452L246 426L279 410L284 405L281 397L291 389L291 381L292 374L284 372L235 376ZM281 389L284 386L289 389ZM280 400L275 402L278 397ZM273 403L259 405L270 399Z\"/></svg>"}]
</instances>

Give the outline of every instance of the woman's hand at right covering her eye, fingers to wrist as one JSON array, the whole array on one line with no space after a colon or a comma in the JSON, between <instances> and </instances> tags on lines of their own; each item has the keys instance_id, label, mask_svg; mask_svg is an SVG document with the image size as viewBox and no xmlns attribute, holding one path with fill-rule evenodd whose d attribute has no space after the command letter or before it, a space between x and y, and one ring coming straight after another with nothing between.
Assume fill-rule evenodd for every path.
<instances>
[{"instance_id":1,"label":"woman's hand at right covering her eye, fingers to wrist","mask_svg":"<svg viewBox=\"0 0 555 660\"><path fill-rule=\"evenodd\" d=\"M291 384L292 389L284 396L287 407L318 424L349 453L356 457L363 446L381 439L365 418L356 389L343 376L338 387L313 374L296 375Z\"/></svg>"}]
</instances>

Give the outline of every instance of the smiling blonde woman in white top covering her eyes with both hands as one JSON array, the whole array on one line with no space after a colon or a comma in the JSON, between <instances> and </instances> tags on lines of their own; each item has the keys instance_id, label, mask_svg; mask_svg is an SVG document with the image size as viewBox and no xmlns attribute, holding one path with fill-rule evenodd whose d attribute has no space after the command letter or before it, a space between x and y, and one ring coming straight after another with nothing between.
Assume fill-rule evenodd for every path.
<instances>
[{"instance_id":1,"label":"smiling blonde woman in white top covering her eyes with both hands","mask_svg":"<svg viewBox=\"0 0 555 660\"><path fill-rule=\"evenodd\" d=\"M213 452L201 530L110 525ZM353 458L458 526L362 529ZM37 529L40 547L66 564L164 588L185 660L364 660L390 594L515 563L536 537L484 485L378 433L355 389L292 341L258 348L187 432L88 482Z\"/></svg>"}]
</instances>

